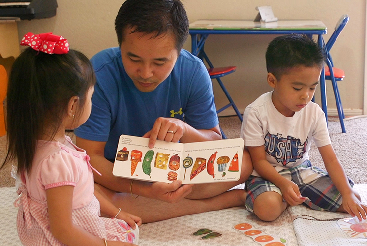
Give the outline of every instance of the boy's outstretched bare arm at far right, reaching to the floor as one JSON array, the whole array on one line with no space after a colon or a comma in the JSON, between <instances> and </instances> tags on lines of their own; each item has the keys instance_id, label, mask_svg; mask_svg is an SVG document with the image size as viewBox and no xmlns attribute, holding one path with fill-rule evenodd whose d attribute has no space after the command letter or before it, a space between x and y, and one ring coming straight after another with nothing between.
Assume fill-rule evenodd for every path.
<instances>
[{"instance_id":1,"label":"boy's outstretched bare arm at far right, reaching to the floor","mask_svg":"<svg viewBox=\"0 0 367 246\"><path fill-rule=\"evenodd\" d=\"M329 144L318 149L333 184L343 197L343 209L353 217L357 216L359 220L366 219L367 206L361 204L357 193L350 187L348 177L337 159L332 145Z\"/></svg>"}]
</instances>

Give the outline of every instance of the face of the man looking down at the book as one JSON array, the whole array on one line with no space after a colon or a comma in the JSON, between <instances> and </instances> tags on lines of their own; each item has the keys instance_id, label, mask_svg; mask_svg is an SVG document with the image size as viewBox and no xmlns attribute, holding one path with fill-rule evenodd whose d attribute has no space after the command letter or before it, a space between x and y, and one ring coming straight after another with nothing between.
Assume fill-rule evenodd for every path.
<instances>
[{"instance_id":1,"label":"face of the man looking down at the book","mask_svg":"<svg viewBox=\"0 0 367 246\"><path fill-rule=\"evenodd\" d=\"M141 92L152 92L172 72L178 58L171 34L131 33L126 29L121 43L122 63L127 75Z\"/></svg>"}]
</instances>

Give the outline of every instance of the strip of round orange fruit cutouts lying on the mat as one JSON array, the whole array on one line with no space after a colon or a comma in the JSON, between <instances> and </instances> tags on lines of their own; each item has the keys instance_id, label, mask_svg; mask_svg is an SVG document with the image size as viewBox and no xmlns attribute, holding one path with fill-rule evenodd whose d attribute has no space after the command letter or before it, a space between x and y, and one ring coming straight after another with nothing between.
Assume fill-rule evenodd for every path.
<instances>
[{"instance_id":1,"label":"strip of round orange fruit cutouts lying on the mat","mask_svg":"<svg viewBox=\"0 0 367 246\"><path fill-rule=\"evenodd\" d=\"M265 232L254 228L248 223L237 224L233 227L248 237L251 237L255 242L262 246L286 246L287 240L277 236L271 236Z\"/></svg>"}]
</instances>

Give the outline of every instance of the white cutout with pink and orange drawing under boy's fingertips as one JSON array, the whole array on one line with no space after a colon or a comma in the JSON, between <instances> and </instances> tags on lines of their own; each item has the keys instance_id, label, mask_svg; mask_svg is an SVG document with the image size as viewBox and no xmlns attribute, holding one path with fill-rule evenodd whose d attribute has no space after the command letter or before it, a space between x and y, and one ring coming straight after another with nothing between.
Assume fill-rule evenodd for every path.
<instances>
[{"instance_id":1,"label":"white cutout with pink and orange drawing under boy's fingertips","mask_svg":"<svg viewBox=\"0 0 367 246\"><path fill-rule=\"evenodd\" d=\"M356 218L342 218L337 221L346 234L351 238L367 238L367 220L358 221Z\"/></svg>"}]
</instances>

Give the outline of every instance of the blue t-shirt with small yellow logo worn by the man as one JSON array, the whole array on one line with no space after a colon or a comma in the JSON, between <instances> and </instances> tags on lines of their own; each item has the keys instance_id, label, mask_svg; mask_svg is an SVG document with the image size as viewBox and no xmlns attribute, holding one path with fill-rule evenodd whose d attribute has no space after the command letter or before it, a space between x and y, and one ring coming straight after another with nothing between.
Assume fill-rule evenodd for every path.
<instances>
[{"instance_id":1,"label":"blue t-shirt with small yellow logo worn by the man","mask_svg":"<svg viewBox=\"0 0 367 246\"><path fill-rule=\"evenodd\" d=\"M218 125L212 82L203 62L181 50L166 80L153 92L140 92L127 75L119 47L103 50L91 59L97 78L88 121L75 135L107 142L106 159L115 159L120 135L143 136L158 117L184 120L196 129Z\"/></svg>"}]
</instances>

